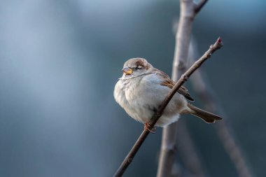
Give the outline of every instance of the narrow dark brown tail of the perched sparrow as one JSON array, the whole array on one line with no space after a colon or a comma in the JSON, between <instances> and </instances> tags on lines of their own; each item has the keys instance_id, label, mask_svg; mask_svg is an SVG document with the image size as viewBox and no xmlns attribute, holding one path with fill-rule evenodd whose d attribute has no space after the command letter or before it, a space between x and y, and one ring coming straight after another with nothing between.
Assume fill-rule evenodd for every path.
<instances>
[{"instance_id":1,"label":"narrow dark brown tail of the perched sparrow","mask_svg":"<svg viewBox=\"0 0 266 177\"><path fill-rule=\"evenodd\" d=\"M196 106L193 106L192 104L188 104L188 108L192 110L190 114L196 115L207 123L214 123L216 120L223 119L218 115L204 111L200 108L197 108Z\"/></svg>"}]
</instances>

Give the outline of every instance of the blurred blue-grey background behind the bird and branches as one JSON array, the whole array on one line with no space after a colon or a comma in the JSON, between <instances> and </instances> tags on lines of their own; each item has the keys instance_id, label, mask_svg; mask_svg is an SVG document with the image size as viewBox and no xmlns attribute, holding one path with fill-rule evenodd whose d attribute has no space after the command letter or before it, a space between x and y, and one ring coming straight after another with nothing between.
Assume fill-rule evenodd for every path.
<instances>
[{"instance_id":1,"label":"blurred blue-grey background behind the bird and branches","mask_svg":"<svg viewBox=\"0 0 266 177\"><path fill-rule=\"evenodd\" d=\"M0 4L0 176L112 176L143 129L113 87L131 57L171 74L179 1ZM266 164L265 8L263 0L209 1L193 26L200 54L223 38L202 69L254 176L265 176ZM186 119L208 176L237 176L213 125ZM125 176L155 176L161 132Z\"/></svg>"}]
</instances>

